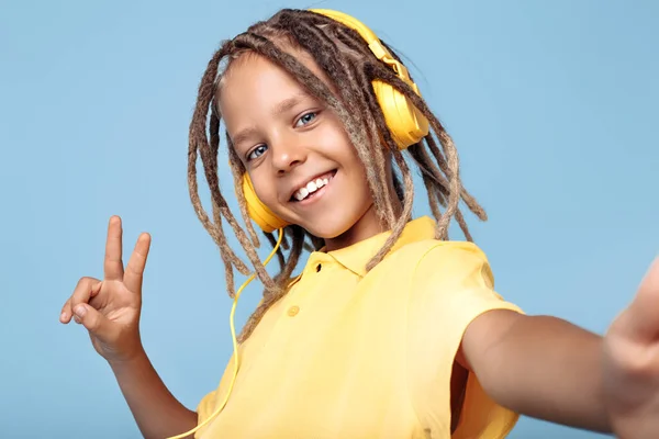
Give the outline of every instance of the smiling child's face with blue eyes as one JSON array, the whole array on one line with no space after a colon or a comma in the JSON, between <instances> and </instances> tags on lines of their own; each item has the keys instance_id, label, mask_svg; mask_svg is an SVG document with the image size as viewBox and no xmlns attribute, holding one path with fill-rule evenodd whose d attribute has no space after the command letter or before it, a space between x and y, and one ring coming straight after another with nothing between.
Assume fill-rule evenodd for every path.
<instances>
[{"instance_id":1,"label":"smiling child's face with blue eyes","mask_svg":"<svg viewBox=\"0 0 659 439\"><path fill-rule=\"evenodd\" d=\"M295 56L332 88L309 55ZM340 121L284 70L242 56L223 78L220 111L258 198L278 216L328 247L332 238L343 246L379 232L364 165Z\"/></svg>"}]
</instances>

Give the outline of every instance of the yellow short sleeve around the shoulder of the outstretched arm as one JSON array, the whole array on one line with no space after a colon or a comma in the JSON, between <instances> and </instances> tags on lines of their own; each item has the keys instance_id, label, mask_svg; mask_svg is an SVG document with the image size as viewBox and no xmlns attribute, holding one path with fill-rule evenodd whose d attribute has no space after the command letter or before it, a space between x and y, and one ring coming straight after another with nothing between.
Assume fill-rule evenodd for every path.
<instances>
[{"instance_id":1,"label":"yellow short sleeve around the shoulder of the outstretched arm","mask_svg":"<svg viewBox=\"0 0 659 439\"><path fill-rule=\"evenodd\" d=\"M488 259L476 245L438 241L418 260L407 309L407 373L412 404L431 437L450 435L455 357L467 326L491 309L522 313L494 291ZM517 419L517 414L492 401L470 372L451 438L502 438Z\"/></svg>"}]
</instances>

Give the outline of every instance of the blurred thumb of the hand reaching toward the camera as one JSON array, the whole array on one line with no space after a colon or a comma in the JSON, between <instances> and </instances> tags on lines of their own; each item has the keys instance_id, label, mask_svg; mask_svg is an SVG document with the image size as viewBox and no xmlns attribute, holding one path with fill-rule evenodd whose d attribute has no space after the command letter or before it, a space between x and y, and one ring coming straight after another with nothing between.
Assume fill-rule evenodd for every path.
<instances>
[{"instance_id":1,"label":"blurred thumb of the hand reaching toward the camera","mask_svg":"<svg viewBox=\"0 0 659 439\"><path fill-rule=\"evenodd\" d=\"M628 336L638 341L654 341L659 336L659 258L638 286L636 297L627 308Z\"/></svg>"}]
</instances>

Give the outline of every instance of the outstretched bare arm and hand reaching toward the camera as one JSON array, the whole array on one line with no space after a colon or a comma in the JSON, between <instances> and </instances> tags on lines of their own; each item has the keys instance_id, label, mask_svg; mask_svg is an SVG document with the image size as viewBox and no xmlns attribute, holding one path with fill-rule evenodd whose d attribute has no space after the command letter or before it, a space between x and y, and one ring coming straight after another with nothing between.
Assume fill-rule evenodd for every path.
<instances>
[{"instance_id":1,"label":"outstretched bare arm and hand reaching toward the camera","mask_svg":"<svg viewBox=\"0 0 659 439\"><path fill-rule=\"evenodd\" d=\"M458 361L521 414L625 438L659 431L659 259L604 337L565 320L491 311Z\"/></svg>"}]
</instances>

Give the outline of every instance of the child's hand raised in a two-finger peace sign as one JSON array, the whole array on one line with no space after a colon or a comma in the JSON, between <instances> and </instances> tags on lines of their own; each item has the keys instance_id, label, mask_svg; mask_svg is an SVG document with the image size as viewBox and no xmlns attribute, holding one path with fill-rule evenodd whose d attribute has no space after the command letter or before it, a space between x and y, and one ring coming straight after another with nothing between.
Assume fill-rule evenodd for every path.
<instances>
[{"instance_id":1,"label":"child's hand raised in a two-finger peace sign","mask_svg":"<svg viewBox=\"0 0 659 439\"><path fill-rule=\"evenodd\" d=\"M149 246L150 236L142 234L124 270L121 218L112 216L105 243L104 279L81 278L62 308L59 320L68 324L74 318L82 324L97 352L109 362L130 360L142 351L142 279Z\"/></svg>"}]
</instances>

